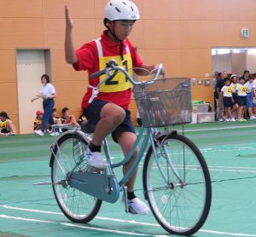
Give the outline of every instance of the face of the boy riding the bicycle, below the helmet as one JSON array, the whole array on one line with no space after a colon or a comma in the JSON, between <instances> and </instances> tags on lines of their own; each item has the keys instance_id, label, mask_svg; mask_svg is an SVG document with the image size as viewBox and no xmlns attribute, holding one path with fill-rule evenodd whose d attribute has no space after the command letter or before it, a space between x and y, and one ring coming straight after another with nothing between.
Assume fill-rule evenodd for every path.
<instances>
[{"instance_id":1,"label":"face of the boy riding the bicycle, below the helmet","mask_svg":"<svg viewBox=\"0 0 256 237\"><path fill-rule=\"evenodd\" d=\"M109 27L119 40L125 40L130 35L134 22L135 20L109 21Z\"/></svg>"}]
</instances>

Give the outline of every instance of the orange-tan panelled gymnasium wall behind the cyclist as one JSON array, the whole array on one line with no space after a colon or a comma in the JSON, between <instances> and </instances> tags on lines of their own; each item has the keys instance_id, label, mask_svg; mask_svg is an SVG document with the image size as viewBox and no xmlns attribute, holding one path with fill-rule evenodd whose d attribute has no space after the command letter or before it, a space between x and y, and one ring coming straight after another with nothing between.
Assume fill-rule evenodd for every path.
<instances>
[{"instance_id":1,"label":"orange-tan panelled gymnasium wall behind the cyclist","mask_svg":"<svg viewBox=\"0 0 256 237\"><path fill-rule=\"evenodd\" d=\"M97 38L104 27L107 0L69 0L75 47ZM135 0L142 15L131 33L145 64L164 63L170 77L212 80L211 49L255 47L255 0ZM76 116L87 84L86 72L75 72L64 57L66 0L0 0L0 110L17 128L15 49L50 49L51 75L58 93L55 107ZM242 39L242 27L249 38ZM209 75L209 77L208 77ZM212 87L193 84L193 100L212 102ZM35 92L36 93L36 92ZM29 105L28 105L29 106ZM136 109L134 102L131 110ZM135 119L136 113L133 114Z\"/></svg>"}]
</instances>

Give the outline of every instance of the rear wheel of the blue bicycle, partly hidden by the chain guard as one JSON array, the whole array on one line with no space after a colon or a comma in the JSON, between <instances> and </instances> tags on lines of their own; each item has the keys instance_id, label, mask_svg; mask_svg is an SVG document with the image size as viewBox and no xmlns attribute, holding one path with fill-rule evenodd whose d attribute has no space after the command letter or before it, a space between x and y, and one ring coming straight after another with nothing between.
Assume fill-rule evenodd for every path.
<instances>
[{"instance_id":1,"label":"rear wheel of the blue bicycle, partly hidden by the chain guard","mask_svg":"<svg viewBox=\"0 0 256 237\"><path fill-rule=\"evenodd\" d=\"M66 176L68 171L73 170L81 155L84 155L88 143L81 135L73 133L61 136L58 146L59 148L55 146L51 157L51 179L55 199L68 219L74 223L88 223L100 210L102 200L70 187ZM84 164L79 165L77 169L83 170L82 165Z\"/></svg>"}]
</instances>

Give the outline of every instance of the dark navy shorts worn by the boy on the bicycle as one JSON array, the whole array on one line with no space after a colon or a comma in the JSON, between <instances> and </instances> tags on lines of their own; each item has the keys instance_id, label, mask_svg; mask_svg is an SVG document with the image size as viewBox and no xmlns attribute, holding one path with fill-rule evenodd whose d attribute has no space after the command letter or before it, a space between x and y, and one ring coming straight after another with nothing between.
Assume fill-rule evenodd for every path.
<instances>
[{"instance_id":1,"label":"dark navy shorts worn by the boy on the bicycle","mask_svg":"<svg viewBox=\"0 0 256 237\"><path fill-rule=\"evenodd\" d=\"M95 100L92 101L89 105L89 107L84 109L84 116L89 121L90 124L97 124L101 119L101 111L102 107L108 104L108 101L102 101L102 100ZM125 109L125 120L122 124L119 124L119 126L113 131L112 137L113 141L117 142L116 137L114 136L115 132L125 132L129 131L131 133L135 134L134 125L131 122L131 111Z\"/></svg>"}]
</instances>

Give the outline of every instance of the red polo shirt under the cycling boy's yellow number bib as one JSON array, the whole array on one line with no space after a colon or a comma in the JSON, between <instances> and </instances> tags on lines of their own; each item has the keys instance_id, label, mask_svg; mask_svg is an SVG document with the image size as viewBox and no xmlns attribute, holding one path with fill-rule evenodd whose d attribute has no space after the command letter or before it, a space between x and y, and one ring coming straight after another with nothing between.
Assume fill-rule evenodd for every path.
<instances>
[{"instance_id":1,"label":"red polo shirt under the cycling boy's yellow number bib","mask_svg":"<svg viewBox=\"0 0 256 237\"><path fill-rule=\"evenodd\" d=\"M116 56L120 55L119 43L113 42L111 38L108 37L107 31L104 31L101 36L102 51L104 56ZM137 55L134 46L128 39L123 41L123 53L126 54L126 45L129 46L132 59L132 67L140 67L143 65L143 61ZM89 84L96 86L99 83L99 78L90 78L90 74L99 71L99 57L96 47L96 42L92 41L90 43L84 43L84 45L76 51L78 57L78 62L73 64L75 70L87 70L89 74ZM83 97L82 107L86 108L89 106L89 99L91 95L91 88L87 88L87 91ZM131 102L131 89L123 90L119 92L100 92L97 99L112 102L119 105L120 107L128 108Z\"/></svg>"}]
</instances>

